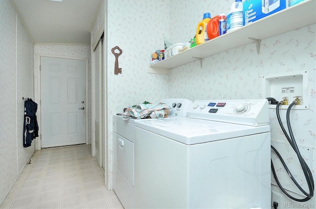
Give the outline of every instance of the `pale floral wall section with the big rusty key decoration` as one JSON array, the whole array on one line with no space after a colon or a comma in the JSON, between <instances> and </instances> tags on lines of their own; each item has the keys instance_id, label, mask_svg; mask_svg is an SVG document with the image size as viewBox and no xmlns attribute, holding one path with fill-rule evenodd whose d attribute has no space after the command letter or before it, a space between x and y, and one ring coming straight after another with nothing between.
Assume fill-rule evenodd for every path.
<instances>
[{"instance_id":1,"label":"pale floral wall section with the big rusty key decoration","mask_svg":"<svg viewBox=\"0 0 316 209\"><path fill-rule=\"evenodd\" d=\"M108 153L109 166L113 153L113 114L123 108L144 101L157 102L168 98L168 75L148 74L151 54L163 49L162 34L169 30L167 24L169 1L108 0L107 7L107 77L108 77ZM115 56L111 49L119 46L122 54L118 67L122 73L114 74ZM112 168L108 172L111 189Z\"/></svg>"}]
</instances>

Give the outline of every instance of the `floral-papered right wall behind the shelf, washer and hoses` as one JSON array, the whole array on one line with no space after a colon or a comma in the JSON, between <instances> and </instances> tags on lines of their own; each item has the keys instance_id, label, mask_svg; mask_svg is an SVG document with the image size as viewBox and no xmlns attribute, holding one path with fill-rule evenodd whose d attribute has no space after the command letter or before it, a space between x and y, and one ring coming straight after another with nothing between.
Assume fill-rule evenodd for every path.
<instances>
[{"instance_id":1,"label":"floral-papered right wall behind the shelf, washer and hoses","mask_svg":"<svg viewBox=\"0 0 316 209\"><path fill-rule=\"evenodd\" d=\"M204 12L212 16L228 13L233 0L173 0L170 3L170 39L174 43L190 40L195 34L196 26ZM265 29L269 30L269 29ZM264 31L264 30L263 30ZM311 25L285 34L262 40L260 54L257 54L255 43L237 47L220 54L189 63L170 70L169 96L185 97L192 101L198 99L261 99L262 77L281 73L308 70L308 103L307 110L291 111L291 125L298 146L309 148L310 155L304 156L313 167L315 179L316 168L316 25ZM280 100L280 98L276 98ZM292 101L292 98L289 98ZM285 111L281 111L285 121ZM272 141L276 141L277 150L282 154L296 175L296 179L306 187L306 180L297 163L295 154L281 133L276 120L275 110L270 110ZM286 124L285 124L286 126ZM287 145L282 145L283 143ZM304 148L306 147L306 148ZM303 153L304 150L302 150ZM305 153L305 152L304 152ZM283 186L290 191L298 192L294 183L273 156L276 173ZM272 177L272 182L275 180ZM282 194L276 186L273 191ZM299 196L297 196L300 198ZM293 202L283 194L283 202ZM309 203L316 207L316 198ZM279 205L278 208L283 208ZM305 207L304 207L305 208Z\"/></svg>"}]
</instances>

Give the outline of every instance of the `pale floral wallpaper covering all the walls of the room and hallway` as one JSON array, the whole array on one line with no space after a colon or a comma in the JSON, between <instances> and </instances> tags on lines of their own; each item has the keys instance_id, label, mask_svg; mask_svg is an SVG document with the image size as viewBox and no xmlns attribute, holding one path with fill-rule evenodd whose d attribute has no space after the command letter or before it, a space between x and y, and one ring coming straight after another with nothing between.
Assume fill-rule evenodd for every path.
<instances>
[{"instance_id":1,"label":"pale floral wallpaper covering all the walls of the room and hallway","mask_svg":"<svg viewBox=\"0 0 316 209\"><path fill-rule=\"evenodd\" d=\"M155 3L152 0L106 1L109 189L112 188L113 177L112 115L121 112L124 107L144 101L155 102L161 98L175 97L192 101L265 98L266 95L262 95L264 76L301 70L308 71L309 108L292 110L291 125L302 155L307 164L311 165L315 178L315 24L262 40L259 55L256 52L256 45L251 43L204 58L202 68L199 61L196 61L170 69L169 75L147 73L151 53L163 48L163 35L172 43L189 41L195 35L197 24L204 12L210 12L211 16L227 14L233 2L234 0L161 0ZM35 45L32 51L33 43L27 38L9 0L0 1L0 15L0 46L4 49L0 51L0 127L4 124L8 127L0 132L0 165L3 165L0 169L0 178L6 179L0 181L2 201L23 169L21 167L24 166L26 159L30 158L30 150L21 148L16 141L19 140L18 129L21 128L17 124L21 121L19 114L21 106L23 107L20 97L37 96L36 73L33 74L35 77L32 84L32 73L38 70L37 54L89 58L90 68L90 46ZM122 73L118 75L114 74L115 56L111 52L115 46L122 49L122 54L118 58ZM31 61L27 57L30 57ZM33 68L34 71L30 70ZM90 90L89 85L89 92ZM306 188L296 157L277 124L275 110L270 109L269 114L272 144L284 156L303 188ZM281 116L285 121L284 111L281 112ZM89 136L90 134L89 132ZM32 152L34 145L30 149ZM23 160L20 160L21 158ZM273 153L272 159L282 185L289 191L299 193ZM272 176L272 190L281 194L275 184ZM292 201L283 195L283 202ZM316 206L315 197L310 202Z\"/></svg>"}]
</instances>

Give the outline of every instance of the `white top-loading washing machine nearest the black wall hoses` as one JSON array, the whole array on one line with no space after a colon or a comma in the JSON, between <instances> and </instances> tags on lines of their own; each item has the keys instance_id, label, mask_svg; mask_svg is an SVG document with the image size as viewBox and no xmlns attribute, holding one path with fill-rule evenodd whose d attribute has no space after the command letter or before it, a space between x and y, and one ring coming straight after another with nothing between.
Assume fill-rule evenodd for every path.
<instances>
[{"instance_id":1,"label":"white top-loading washing machine nearest the black wall hoses","mask_svg":"<svg viewBox=\"0 0 316 209\"><path fill-rule=\"evenodd\" d=\"M135 121L135 208L271 208L267 100L196 101Z\"/></svg>"}]
</instances>

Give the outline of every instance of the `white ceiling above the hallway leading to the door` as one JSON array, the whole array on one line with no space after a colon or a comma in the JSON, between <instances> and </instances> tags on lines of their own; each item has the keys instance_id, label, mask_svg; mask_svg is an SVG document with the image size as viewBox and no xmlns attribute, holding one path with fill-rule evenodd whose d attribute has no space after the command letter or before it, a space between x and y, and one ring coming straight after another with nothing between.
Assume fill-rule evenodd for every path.
<instances>
[{"instance_id":1,"label":"white ceiling above the hallway leading to the door","mask_svg":"<svg viewBox=\"0 0 316 209\"><path fill-rule=\"evenodd\" d=\"M90 44L102 0L11 0L36 44Z\"/></svg>"}]
</instances>

